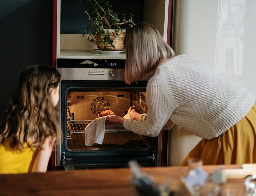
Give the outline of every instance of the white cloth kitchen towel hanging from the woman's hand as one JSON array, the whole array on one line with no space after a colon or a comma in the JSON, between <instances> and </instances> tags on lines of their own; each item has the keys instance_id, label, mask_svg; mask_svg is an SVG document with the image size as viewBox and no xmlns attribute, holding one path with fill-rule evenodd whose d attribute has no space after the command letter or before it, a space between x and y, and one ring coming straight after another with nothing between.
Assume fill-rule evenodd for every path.
<instances>
[{"instance_id":1,"label":"white cloth kitchen towel hanging from the woman's hand","mask_svg":"<svg viewBox=\"0 0 256 196\"><path fill-rule=\"evenodd\" d=\"M85 127L85 145L92 146L94 143L102 144L105 136L105 122L107 116L94 119Z\"/></svg>"}]
</instances>

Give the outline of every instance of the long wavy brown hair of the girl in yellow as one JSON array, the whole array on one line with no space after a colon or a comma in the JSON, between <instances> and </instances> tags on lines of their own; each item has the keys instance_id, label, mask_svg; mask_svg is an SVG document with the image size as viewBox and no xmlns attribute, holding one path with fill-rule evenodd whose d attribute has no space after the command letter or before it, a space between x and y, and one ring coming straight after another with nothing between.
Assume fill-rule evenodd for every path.
<instances>
[{"instance_id":1,"label":"long wavy brown hair of the girl in yellow","mask_svg":"<svg viewBox=\"0 0 256 196\"><path fill-rule=\"evenodd\" d=\"M60 74L53 67L33 65L20 74L17 89L0 122L0 143L8 141L13 149L42 149L47 137L55 145L61 138L58 108L49 91L57 88Z\"/></svg>"}]
</instances>

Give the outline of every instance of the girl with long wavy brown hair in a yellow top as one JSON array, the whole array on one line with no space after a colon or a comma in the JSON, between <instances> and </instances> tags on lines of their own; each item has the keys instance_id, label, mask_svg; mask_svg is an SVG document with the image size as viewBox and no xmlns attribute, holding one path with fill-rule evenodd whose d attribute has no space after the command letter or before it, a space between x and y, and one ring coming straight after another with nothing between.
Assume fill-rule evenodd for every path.
<instances>
[{"instance_id":1,"label":"girl with long wavy brown hair in a yellow top","mask_svg":"<svg viewBox=\"0 0 256 196\"><path fill-rule=\"evenodd\" d=\"M19 78L0 122L0 173L46 172L58 123L60 74L49 66L28 66Z\"/></svg>"}]
</instances>

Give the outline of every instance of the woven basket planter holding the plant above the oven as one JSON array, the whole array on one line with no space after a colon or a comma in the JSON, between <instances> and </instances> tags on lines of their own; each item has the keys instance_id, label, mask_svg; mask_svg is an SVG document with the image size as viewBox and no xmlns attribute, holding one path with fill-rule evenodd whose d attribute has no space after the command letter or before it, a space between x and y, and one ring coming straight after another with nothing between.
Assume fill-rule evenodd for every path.
<instances>
[{"instance_id":1,"label":"woven basket planter holding the plant above the oven","mask_svg":"<svg viewBox=\"0 0 256 196\"><path fill-rule=\"evenodd\" d=\"M120 32L118 32L118 34L119 33ZM126 35L125 30L122 30L122 34L120 36L117 36L114 29L109 29L109 36L110 36L110 39L114 40L113 45L115 46L115 48L113 48L110 44L108 44L107 45L108 51L119 51L119 50L124 49L125 35ZM103 35L103 37L104 36L105 35ZM96 41L96 45L97 45L98 49L99 50L104 50L104 44L102 42L101 35L97 35L97 33L96 33L95 41Z\"/></svg>"}]
</instances>

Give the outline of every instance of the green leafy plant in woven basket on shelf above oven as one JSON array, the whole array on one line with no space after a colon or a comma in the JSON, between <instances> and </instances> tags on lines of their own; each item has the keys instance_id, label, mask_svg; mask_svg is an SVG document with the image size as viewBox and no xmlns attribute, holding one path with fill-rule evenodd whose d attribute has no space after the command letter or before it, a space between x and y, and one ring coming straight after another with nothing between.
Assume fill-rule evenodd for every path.
<instances>
[{"instance_id":1,"label":"green leafy plant in woven basket on shelf above oven","mask_svg":"<svg viewBox=\"0 0 256 196\"><path fill-rule=\"evenodd\" d=\"M89 35L88 41L91 39L90 41L94 42L99 50L122 50L126 31L120 26L124 24L128 24L130 27L134 26L132 14L128 19L126 19L125 14L120 17L119 13L112 10L112 5L109 5L109 1L87 0L87 2L92 9L90 12L88 10L84 12L87 14L89 25L87 28L80 29L83 30L84 35Z\"/></svg>"}]
</instances>

